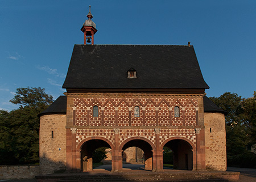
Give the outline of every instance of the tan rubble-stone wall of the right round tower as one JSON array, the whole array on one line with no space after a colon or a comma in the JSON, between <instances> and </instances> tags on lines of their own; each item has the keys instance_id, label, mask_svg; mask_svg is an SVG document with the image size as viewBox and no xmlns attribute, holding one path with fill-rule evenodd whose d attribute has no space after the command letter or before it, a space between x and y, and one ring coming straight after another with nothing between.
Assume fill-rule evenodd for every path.
<instances>
[{"instance_id":1,"label":"tan rubble-stone wall of the right round tower","mask_svg":"<svg viewBox=\"0 0 256 182\"><path fill-rule=\"evenodd\" d=\"M222 113L204 113L207 170L226 171L226 130Z\"/></svg>"}]
</instances>

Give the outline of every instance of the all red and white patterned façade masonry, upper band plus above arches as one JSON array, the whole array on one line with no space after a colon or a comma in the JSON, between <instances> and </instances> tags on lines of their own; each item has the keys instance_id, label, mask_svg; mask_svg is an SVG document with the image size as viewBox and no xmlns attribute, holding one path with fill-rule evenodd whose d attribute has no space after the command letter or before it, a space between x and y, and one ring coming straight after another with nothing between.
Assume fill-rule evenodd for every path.
<instances>
[{"instance_id":1,"label":"all red and white patterned fa\u00e7ade masonry, upper band plus above arches","mask_svg":"<svg viewBox=\"0 0 256 182\"><path fill-rule=\"evenodd\" d=\"M149 99L150 98L150 99ZM195 126L197 98L170 98L163 95L94 95L73 98L76 145L88 137L104 137L114 143L114 130L97 126ZM93 117L93 106L98 106L98 117ZM134 107L140 108L140 117L134 117ZM174 117L174 107L180 108L180 117ZM90 126L90 129L86 126ZM91 129L96 126L95 129ZM84 129L86 128L86 129ZM120 144L131 137L143 137L155 144L154 129L120 129ZM160 145L171 137L184 137L195 144L195 129L161 129Z\"/></svg>"}]
</instances>

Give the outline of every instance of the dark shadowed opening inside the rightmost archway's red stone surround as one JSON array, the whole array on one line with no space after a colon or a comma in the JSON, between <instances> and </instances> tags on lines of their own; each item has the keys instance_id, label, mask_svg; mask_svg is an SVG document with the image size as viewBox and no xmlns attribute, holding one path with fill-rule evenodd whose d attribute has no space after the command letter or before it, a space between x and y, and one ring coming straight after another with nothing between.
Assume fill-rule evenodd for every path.
<instances>
[{"instance_id":1,"label":"dark shadowed opening inside the rightmost archway's red stone surround","mask_svg":"<svg viewBox=\"0 0 256 182\"><path fill-rule=\"evenodd\" d=\"M172 151L173 168L175 170L193 170L193 151L192 146L183 139L173 139L168 141L164 148ZM164 159L163 159L164 160Z\"/></svg>"}]
</instances>

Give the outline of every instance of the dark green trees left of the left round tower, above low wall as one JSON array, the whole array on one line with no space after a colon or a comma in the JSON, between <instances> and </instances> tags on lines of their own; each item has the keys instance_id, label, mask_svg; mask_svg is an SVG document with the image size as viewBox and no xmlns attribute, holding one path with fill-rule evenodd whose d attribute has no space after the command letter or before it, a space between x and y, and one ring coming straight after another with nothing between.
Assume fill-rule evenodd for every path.
<instances>
[{"instance_id":1,"label":"dark green trees left of the left round tower, above low wall","mask_svg":"<svg viewBox=\"0 0 256 182\"><path fill-rule=\"evenodd\" d=\"M34 164L39 162L38 114L52 102L44 89L17 88L14 104L19 109L0 110L0 164Z\"/></svg>"}]
</instances>

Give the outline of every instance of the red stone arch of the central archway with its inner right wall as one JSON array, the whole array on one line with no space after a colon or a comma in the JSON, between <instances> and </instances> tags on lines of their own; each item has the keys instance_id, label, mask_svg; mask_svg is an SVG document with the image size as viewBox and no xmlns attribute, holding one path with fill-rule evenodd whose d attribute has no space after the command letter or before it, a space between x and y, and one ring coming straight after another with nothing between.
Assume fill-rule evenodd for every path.
<instances>
[{"instance_id":1,"label":"red stone arch of the central archway with its inner right wall","mask_svg":"<svg viewBox=\"0 0 256 182\"><path fill-rule=\"evenodd\" d=\"M124 141L120 147L119 151L125 151L129 147L139 147L144 152L144 170L153 170L153 151L155 151L155 146L152 142L148 141L146 138L134 137L129 138ZM122 167L121 167L122 168Z\"/></svg>"}]
</instances>

